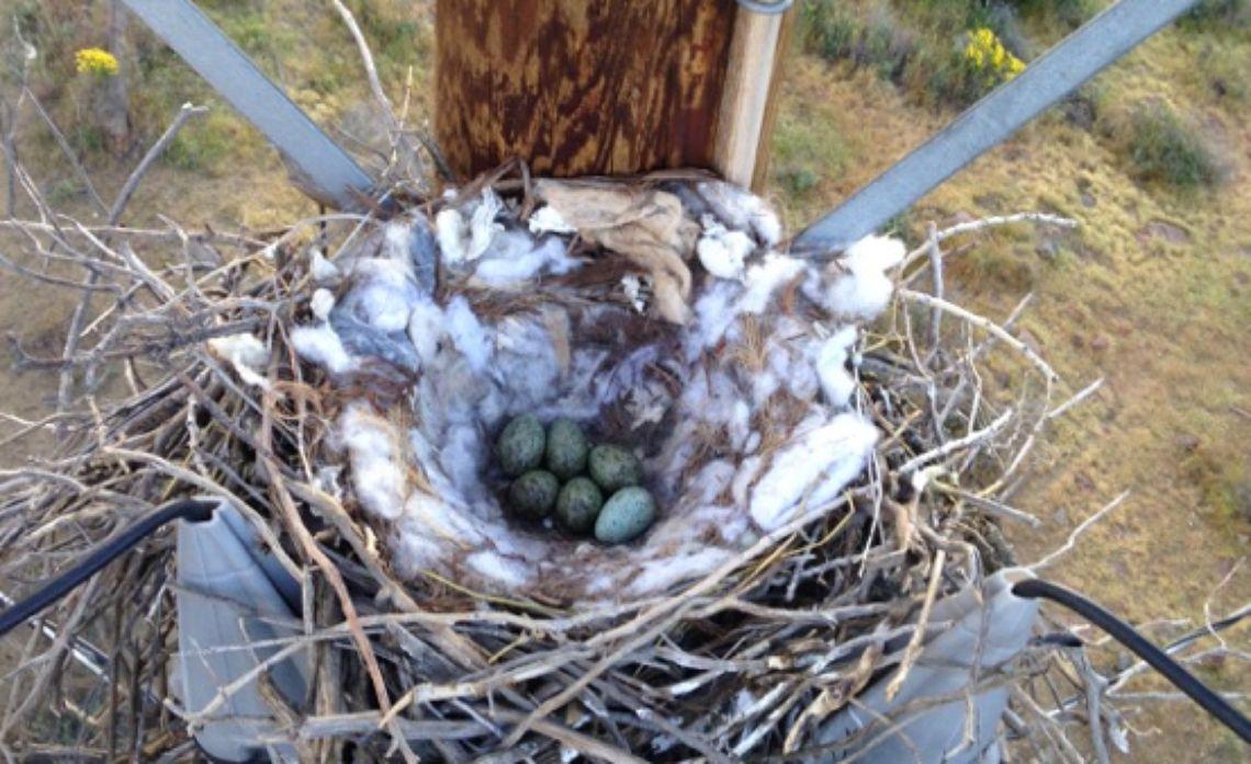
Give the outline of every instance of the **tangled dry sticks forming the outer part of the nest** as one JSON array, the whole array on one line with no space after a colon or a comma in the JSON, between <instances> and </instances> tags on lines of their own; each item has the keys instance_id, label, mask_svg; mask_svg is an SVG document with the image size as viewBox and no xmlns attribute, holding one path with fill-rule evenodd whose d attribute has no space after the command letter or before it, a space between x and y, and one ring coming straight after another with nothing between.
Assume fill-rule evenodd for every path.
<instances>
[{"instance_id":1,"label":"tangled dry sticks forming the outer part of the nest","mask_svg":"<svg viewBox=\"0 0 1251 764\"><path fill-rule=\"evenodd\" d=\"M693 221L699 214L691 213L692 200L707 180L644 178L629 189L672 194ZM505 203L499 219L515 226L540 199L550 201L527 176L500 171L454 198L390 199L367 214L323 215L263 234L188 233L173 224L91 229L53 216L11 224L54 264L94 274L93 289L115 300L81 326L65 358L16 345L20 364L78 375L86 389L74 398L78 406L14 435L55 428L61 439L54 458L4 473L6 589L28 589L163 501L211 495L244 511L260 544L303 588L305 611L283 643L315 666L309 696L283 699L258 673L275 706L275 735L301 756L339 760L345 746L425 760L503 750L540 761L570 751L600 760L714 761L837 753L818 741L822 721L869 683L908 669L934 599L977 588L1012 564L998 521L1023 515L1003 498L1055 413L1055 376L1008 330L1017 314L997 325L943 298L941 243L1021 218L931 231L891 269L884 315L861 328L839 364L853 383L841 405L876 430L863 469L833 491L822 493L819 481L806 486L808 498L822 494L819 501L789 505L771 524L744 520L732 536L713 538L714 525L751 514L749 493L747 504L737 504L727 488L708 505L737 506L738 514L716 516L686 538L682 524L692 520L678 509L682 480L694 480L713 461L737 469L747 458L746 446L728 443L728 430L694 428L683 440L691 453L664 473L677 488L662 491L668 518L652 534L718 553L693 574L622 593L641 574L638 549L648 550L644 561L663 563L666 548L544 541L545 554L573 560L564 568L569 575L515 586L438 555L425 565L397 559L403 545L394 543L395 525L354 486L342 420L368 406L369 418L395 431L419 426L412 401L420 370L373 358L328 371L301 360L293 343L320 310L313 304L320 278L314 250L350 261L369 248L385 249L387 226L397 220L434 220L487 189ZM759 241L767 234L753 235L762 249L773 244ZM570 358L579 344L636 338L610 349L612 368L641 346L682 355L691 326L701 325L693 313L681 315L682 306L689 310L709 294L704 281L712 276L693 258L679 259L683 274L664 259L613 256L603 236L567 236L567 254L593 266L518 290L484 288L440 264L429 274L438 300L463 296L487 323L542 320L559 306L573 338ZM812 268L818 280L846 273L837 259ZM637 294L622 291L628 276L651 288L642 305ZM918 286L922 279L927 290ZM694 384L693 371L719 364L738 365L743 374L733 379L747 385L768 366L769 341L779 331L824 339L842 325L813 329L831 316L802 286L802 278L792 279L768 310L736 316L733 340L701 348L692 356L698 360L639 368L671 385L678 401ZM340 286L340 300L345 294ZM239 335L255 338L263 355L221 341ZM121 385L129 393L96 395ZM736 391L752 395L746 386ZM753 403L756 454L767 461L783 453L814 408L829 408L828 395ZM666 413L641 438L637 416L614 408L623 399L603 400L609 403L598 409L598 421L612 439L666 444L682 420ZM432 490L423 463L407 464L407 485ZM489 536L498 519L478 520ZM667 530L666 523L674 525ZM153 536L46 614L55 641L49 648L36 635L29 643L28 663L11 676L20 691L11 695L0 739L34 751L70 730L71 748L100 756L190 750L190 730L206 719L183 709L170 690L174 563L173 535ZM618 595L577 588L579 564L609 571ZM628 574L618 576L614 565ZM91 653L84 645L99 645L96 658L108 668L98 676L71 660L75 650ZM980 681L1003 675L987 671ZM869 723L861 741L891 724Z\"/></svg>"}]
</instances>

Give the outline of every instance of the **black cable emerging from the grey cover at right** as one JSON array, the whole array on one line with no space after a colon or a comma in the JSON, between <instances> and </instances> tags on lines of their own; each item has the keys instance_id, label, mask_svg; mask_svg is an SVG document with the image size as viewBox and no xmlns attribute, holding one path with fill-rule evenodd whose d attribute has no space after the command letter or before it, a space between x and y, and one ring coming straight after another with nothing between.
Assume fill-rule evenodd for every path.
<instances>
[{"instance_id":1,"label":"black cable emerging from the grey cover at right","mask_svg":"<svg viewBox=\"0 0 1251 764\"><path fill-rule=\"evenodd\" d=\"M1102 606L1071 589L1040 579L1018 581L1012 586L1012 594L1026 599L1050 599L1103 629L1112 639L1132 650L1138 658L1147 661L1151 668L1163 674L1165 679L1171 681L1178 690L1190 695L1191 700L1203 706L1203 710L1216 716L1221 724L1233 730L1245 743L1251 744L1251 720L1230 705L1225 698L1221 698L1193 674L1182 668L1180 663L1170 658L1163 650L1147 641L1133 626L1112 615ZM1096 723L1093 719L1091 721L1092 724Z\"/></svg>"}]
</instances>

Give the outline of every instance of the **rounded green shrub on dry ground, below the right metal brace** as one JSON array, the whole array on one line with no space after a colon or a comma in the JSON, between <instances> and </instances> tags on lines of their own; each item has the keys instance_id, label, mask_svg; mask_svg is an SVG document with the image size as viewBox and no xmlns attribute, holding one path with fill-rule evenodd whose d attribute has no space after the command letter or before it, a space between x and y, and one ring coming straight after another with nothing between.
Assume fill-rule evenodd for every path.
<instances>
[{"instance_id":1,"label":"rounded green shrub on dry ground, below the right metal brace","mask_svg":"<svg viewBox=\"0 0 1251 764\"><path fill-rule=\"evenodd\" d=\"M1195 125L1162 101L1133 111L1125 148L1138 180L1182 189L1216 185L1221 180L1216 151Z\"/></svg>"}]
</instances>

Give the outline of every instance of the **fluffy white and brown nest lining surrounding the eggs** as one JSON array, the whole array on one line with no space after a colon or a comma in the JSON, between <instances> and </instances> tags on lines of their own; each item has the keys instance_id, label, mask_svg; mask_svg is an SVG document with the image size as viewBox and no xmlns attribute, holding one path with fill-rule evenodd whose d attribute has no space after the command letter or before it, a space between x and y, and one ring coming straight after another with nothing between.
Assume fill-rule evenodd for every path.
<instances>
[{"instance_id":1,"label":"fluffy white and brown nest lining surrounding the eggs","mask_svg":"<svg viewBox=\"0 0 1251 764\"><path fill-rule=\"evenodd\" d=\"M816 518L861 474L877 430L854 410L848 361L902 244L871 238L822 266L772 250L759 199L711 181L676 190L545 181L527 228L488 189L342 256L338 296L318 293L293 344L335 386L408 385L352 399L335 428L402 575L548 603L654 596ZM594 239L619 249L579 253ZM641 298L666 279L681 303ZM636 449L657 525L605 548L512 519L492 444L523 413Z\"/></svg>"}]
</instances>

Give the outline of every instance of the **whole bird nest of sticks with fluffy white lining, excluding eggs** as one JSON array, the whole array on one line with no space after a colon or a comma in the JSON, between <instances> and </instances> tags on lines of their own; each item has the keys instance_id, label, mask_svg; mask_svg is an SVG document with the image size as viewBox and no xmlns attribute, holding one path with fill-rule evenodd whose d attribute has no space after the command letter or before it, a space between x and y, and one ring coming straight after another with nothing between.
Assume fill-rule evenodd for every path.
<instances>
[{"instance_id":1,"label":"whole bird nest of sticks with fluffy white lining, excluding eggs","mask_svg":"<svg viewBox=\"0 0 1251 764\"><path fill-rule=\"evenodd\" d=\"M945 239L1021 219L793 253L699 174L499 171L269 234L20 224L93 250L119 296L68 360L20 363L130 394L26 428L63 440L6 473L4 575L206 494L301 586L280 641L311 688L261 693L300 755L837 753L823 723L907 673L936 600L1011 563L1000 499L1055 378L918 281ZM639 455L656 524L610 546L512 516L493 444L523 413ZM173 556L154 536L59 606L5 735L186 750L208 718L165 681ZM93 643L111 675L68 679Z\"/></svg>"}]
</instances>

